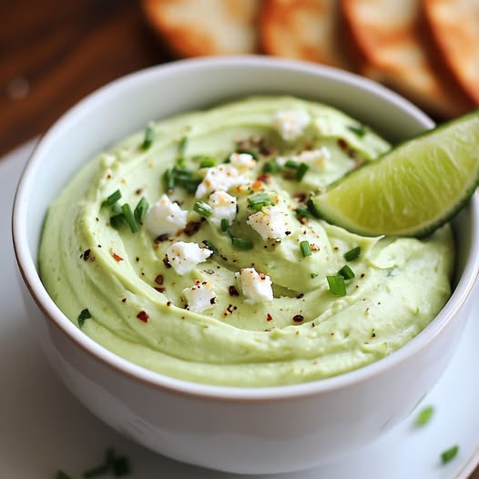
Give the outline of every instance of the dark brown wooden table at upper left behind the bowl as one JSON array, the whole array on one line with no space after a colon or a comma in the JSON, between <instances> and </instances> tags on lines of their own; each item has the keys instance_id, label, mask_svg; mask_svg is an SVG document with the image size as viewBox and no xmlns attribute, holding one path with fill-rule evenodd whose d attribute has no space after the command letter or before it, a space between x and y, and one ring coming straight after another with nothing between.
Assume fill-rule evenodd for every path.
<instances>
[{"instance_id":1,"label":"dark brown wooden table at upper left behind the bowl","mask_svg":"<svg viewBox=\"0 0 479 479\"><path fill-rule=\"evenodd\" d=\"M135 0L0 2L0 158L97 87L172 59Z\"/></svg>"}]
</instances>

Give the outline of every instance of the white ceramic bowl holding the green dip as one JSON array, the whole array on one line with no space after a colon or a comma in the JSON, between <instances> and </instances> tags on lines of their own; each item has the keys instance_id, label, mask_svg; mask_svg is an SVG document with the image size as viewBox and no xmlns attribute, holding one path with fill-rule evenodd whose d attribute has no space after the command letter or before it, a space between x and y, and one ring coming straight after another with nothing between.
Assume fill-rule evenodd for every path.
<instances>
[{"instance_id":1,"label":"white ceramic bowl holding the green dip","mask_svg":"<svg viewBox=\"0 0 479 479\"><path fill-rule=\"evenodd\" d=\"M454 221L456 285L443 311L399 352L318 382L254 389L184 382L127 362L89 339L59 311L38 277L38 242L48 205L82 163L151 118L264 93L329 103L392 141L433 126L391 91L323 66L246 56L153 67L101 88L56 122L25 168L13 219L29 317L76 397L117 431L158 453L246 474L333 460L403 421L451 359L479 261L474 199Z\"/></svg>"}]
</instances>

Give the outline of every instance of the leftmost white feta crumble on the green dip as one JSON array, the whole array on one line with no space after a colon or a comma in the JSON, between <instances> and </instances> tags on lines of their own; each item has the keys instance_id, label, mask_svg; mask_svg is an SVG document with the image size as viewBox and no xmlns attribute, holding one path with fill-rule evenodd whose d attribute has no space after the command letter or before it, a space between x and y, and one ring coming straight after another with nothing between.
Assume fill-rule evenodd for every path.
<instances>
[{"instance_id":1,"label":"leftmost white feta crumble on the green dip","mask_svg":"<svg viewBox=\"0 0 479 479\"><path fill-rule=\"evenodd\" d=\"M167 195L162 195L148 209L145 226L154 236L176 234L179 229L187 225L187 216L188 211L181 209L177 203L173 203Z\"/></svg>"}]
</instances>

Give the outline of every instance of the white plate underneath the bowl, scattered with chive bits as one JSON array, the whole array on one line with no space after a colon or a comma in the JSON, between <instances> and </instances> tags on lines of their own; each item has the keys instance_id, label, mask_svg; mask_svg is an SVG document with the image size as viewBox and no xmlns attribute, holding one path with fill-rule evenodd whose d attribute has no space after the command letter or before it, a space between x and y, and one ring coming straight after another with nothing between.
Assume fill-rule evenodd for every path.
<instances>
[{"instance_id":1,"label":"white plate underneath the bowl, scattered with chive bits","mask_svg":"<svg viewBox=\"0 0 479 479\"><path fill-rule=\"evenodd\" d=\"M77 403L46 363L25 319L10 236L16 181L33 147L30 142L0 160L0 477L53 479L61 468L79 478L100 464L106 448L113 446L130 458L131 479L244 479L179 464L131 443ZM475 302L477 312L479 298ZM479 463L479 322L475 320L473 313L454 361L420 406L434 406L430 423L413 428L411 417L341 462L268 477L467 478ZM455 443L459 454L449 464L441 464L440 453Z\"/></svg>"}]
</instances>

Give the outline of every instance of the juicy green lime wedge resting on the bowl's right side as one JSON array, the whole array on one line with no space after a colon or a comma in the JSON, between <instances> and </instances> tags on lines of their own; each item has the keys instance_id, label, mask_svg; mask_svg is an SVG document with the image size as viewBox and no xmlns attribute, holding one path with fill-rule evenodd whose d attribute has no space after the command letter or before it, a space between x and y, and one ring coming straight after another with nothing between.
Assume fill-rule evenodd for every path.
<instances>
[{"instance_id":1,"label":"juicy green lime wedge resting on the bowl's right side","mask_svg":"<svg viewBox=\"0 0 479 479\"><path fill-rule=\"evenodd\" d=\"M322 219L365 236L423 237L479 183L479 110L392 148L312 198Z\"/></svg>"}]
</instances>

